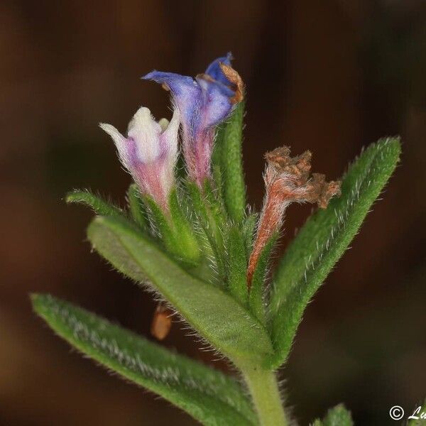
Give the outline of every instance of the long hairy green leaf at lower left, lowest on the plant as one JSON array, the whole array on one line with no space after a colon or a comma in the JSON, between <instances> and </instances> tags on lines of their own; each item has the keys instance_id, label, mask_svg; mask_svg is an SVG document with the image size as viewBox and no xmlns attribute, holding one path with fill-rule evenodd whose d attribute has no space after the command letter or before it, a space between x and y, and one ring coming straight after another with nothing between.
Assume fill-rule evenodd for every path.
<instances>
[{"instance_id":1,"label":"long hairy green leaf at lower left, lowest on the plant","mask_svg":"<svg viewBox=\"0 0 426 426\"><path fill-rule=\"evenodd\" d=\"M50 295L31 299L35 312L72 346L204 425L256 424L251 404L233 378L64 300Z\"/></svg>"}]
</instances>

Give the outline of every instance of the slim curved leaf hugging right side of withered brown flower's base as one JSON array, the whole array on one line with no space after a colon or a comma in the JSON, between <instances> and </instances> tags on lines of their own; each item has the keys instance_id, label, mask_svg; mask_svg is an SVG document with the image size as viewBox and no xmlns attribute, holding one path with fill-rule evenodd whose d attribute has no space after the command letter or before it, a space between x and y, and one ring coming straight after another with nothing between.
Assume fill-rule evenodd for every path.
<instances>
[{"instance_id":1,"label":"slim curved leaf hugging right side of withered brown flower's base","mask_svg":"<svg viewBox=\"0 0 426 426\"><path fill-rule=\"evenodd\" d=\"M265 292L266 292L266 277L268 276L268 267L271 261L271 254L275 243L278 239L278 232L275 233L266 243L261 255L258 258L258 263L251 279L251 289L249 296L249 305L251 312L262 323L266 324L265 312Z\"/></svg>"}]
</instances>

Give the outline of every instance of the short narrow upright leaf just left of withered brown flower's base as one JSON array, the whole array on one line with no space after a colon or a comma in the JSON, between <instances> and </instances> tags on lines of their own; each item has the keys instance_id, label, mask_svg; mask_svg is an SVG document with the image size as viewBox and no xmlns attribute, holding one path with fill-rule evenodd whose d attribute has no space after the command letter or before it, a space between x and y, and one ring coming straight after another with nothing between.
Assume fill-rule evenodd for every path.
<instances>
[{"instance_id":1,"label":"short narrow upright leaf just left of withered brown flower's base","mask_svg":"<svg viewBox=\"0 0 426 426\"><path fill-rule=\"evenodd\" d=\"M237 225L229 228L226 246L229 252L228 291L241 305L246 306L249 301L246 280L246 247L244 245L244 238Z\"/></svg>"}]
</instances>

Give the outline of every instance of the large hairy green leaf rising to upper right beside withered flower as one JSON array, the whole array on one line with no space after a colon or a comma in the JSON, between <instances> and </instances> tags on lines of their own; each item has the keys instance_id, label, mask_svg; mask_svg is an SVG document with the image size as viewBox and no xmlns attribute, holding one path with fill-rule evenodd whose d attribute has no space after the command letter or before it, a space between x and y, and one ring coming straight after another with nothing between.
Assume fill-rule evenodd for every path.
<instances>
[{"instance_id":1,"label":"large hairy green leaf rising to upper right beside withered flower","mask_svg":"<svg viewBox=\"0 0 426 426\"><path fill-rule=\"evenodd\" d=\"M381 139L351 165L342 195L318 210L281 259L271 293L271 325L278 368L290 351L312 295L348 248L371 205L391 177L400 155L399 138Z\"/></svg>"}]
</instances>

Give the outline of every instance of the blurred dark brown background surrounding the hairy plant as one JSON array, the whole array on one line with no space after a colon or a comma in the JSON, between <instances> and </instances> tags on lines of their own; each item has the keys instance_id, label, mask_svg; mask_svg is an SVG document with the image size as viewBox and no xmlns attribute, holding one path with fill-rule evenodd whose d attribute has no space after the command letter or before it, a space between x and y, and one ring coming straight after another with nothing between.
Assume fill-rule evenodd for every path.
<instances>
[{"instance_id":1,"label":"blurred dark brown background surrounding the hairy plant","mask_svg":"<svg viewBox=\"0 0 426 426\"><path fill-rule=\"evenodd\" d=\"M192 425L190 417L70 351L31 312L50 292L143 335L154 305L90 253L91 214L61 197L129 184L99 121L141 105L170 116L139 77L187 75L228 50L249 97L249 200L262 155L309 148L337 178L362 146L403 136L403 160L352 249L315 297L283 369L307 425L341 401L357 425L394 424L426 396L426 2L410 0L2 1L0 4L0 424ZM290 208L283 248L310 207ZM165 345L210 362L178 326ZM216 364L219 366L219 364ZM221 368L224 366L220 365Z\"/></svg>"}]
</instances>

